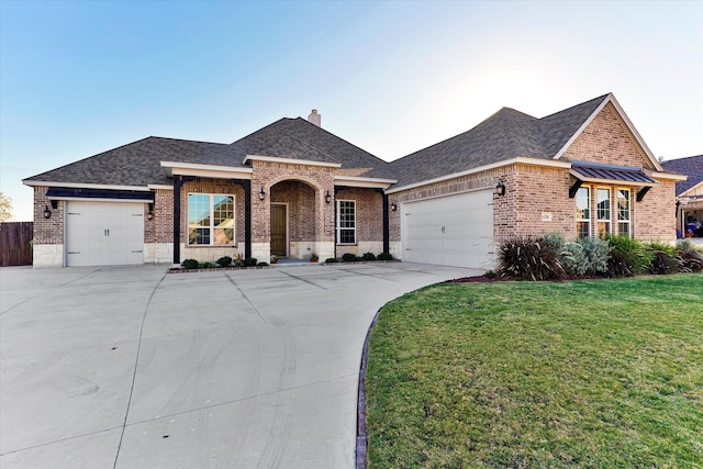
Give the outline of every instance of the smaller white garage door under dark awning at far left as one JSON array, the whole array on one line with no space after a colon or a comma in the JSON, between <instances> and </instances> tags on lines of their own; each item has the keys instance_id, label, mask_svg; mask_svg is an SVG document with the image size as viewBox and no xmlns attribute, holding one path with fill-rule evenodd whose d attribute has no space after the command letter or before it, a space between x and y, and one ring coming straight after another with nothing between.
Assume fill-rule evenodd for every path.
<instances>
[{"instance_id":1,"label":"smaller white garage door under dark awning at far left","mask_svg":"<svg viewBox=\"0 0 703 469\"><path fill-rule=\"evenodd\" d=\"M68 202L66 252L69 266L142 264L144 204Z\"/></svg>"}]
</instances>

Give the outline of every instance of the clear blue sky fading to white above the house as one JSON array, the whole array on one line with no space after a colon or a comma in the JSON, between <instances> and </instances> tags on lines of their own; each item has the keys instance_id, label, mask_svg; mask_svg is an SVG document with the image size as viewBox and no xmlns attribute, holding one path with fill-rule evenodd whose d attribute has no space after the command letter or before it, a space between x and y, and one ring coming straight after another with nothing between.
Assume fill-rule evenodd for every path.
<instances>
[{"instance_id":1,"label":"clear blue sky fading to white above the house","mask_svg":"<svg viewBox=\"0 0 703 469\"><path fill-rule=\"evenodd\" d=\"M613 92L656 157L703 154L703 1L0 0L0 191L154 135L231 143L280 118L384 160L501 108Z\"/></svg>"}]
</instances>

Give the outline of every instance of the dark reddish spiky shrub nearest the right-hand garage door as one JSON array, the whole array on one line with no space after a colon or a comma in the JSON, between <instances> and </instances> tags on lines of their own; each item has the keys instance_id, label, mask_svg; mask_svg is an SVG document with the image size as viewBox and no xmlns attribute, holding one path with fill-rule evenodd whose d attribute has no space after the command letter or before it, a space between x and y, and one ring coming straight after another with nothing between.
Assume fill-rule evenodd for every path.
<instances>
[{"instance_id":1,"label":"dark reddish spiky shrub nearest the right-hand garage door","mask_svg":"<svg viewBox=\"0 0 703 469\"><path fill-rule=\"evenodd\" d=\"M518 280L561 280L559 253L550 241L532 236L505 239L498 249L498 273Z\"/></svg>"}]
</instances>

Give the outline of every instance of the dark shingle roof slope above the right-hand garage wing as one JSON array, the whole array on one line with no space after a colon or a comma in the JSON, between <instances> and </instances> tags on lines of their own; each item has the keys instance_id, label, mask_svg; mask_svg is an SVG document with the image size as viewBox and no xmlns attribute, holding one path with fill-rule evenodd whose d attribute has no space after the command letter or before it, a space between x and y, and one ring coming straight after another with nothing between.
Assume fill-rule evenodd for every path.
<instances>
[{"instance_id":1,"label":"dark shingle roof slope above the right-hand garage wing","mask_svg":"<svg viewBox=\"0 0 703 469\"><path fill-rule=\"evenodd\" d=\"M511 159L551 159L609 97L537 119L503 108L476 127L391 163L397 186L411 185Z\"/></svg>"}]
</instances>

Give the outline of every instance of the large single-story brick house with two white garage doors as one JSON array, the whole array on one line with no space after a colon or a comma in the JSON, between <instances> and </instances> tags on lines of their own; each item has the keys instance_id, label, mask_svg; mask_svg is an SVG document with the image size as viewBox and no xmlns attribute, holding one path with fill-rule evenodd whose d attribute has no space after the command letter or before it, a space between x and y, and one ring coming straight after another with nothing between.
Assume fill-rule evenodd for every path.
<instances>
[{"instance_id":1,"label":"large single-story brick house with two white garage doors","mask_svg":"<svg viewBox=\"0 0 703 469\"><path fill-rule=\"evenodd\" d=\"M605 94L543 119L504 108L392 163L313 110L233 144L148 137L23 182L36 267L390 252L492 268L510 236L673 241L683 179Z\"/></svg>"}]
</instances>

